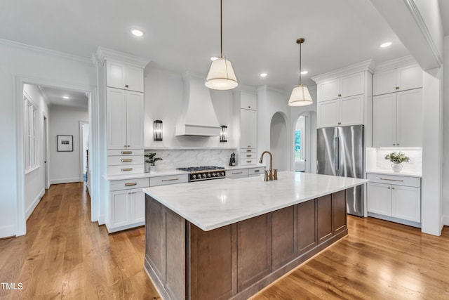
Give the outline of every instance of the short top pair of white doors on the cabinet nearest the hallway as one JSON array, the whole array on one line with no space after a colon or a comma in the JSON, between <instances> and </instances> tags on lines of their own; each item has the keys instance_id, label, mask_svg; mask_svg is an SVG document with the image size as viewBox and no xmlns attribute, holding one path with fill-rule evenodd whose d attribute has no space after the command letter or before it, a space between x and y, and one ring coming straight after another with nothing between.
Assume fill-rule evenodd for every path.
<instances>
[{"instance_id":1,"label":"short top pair of white doors on the cabinet nearest the hallway","mask_svg":"<svg viewBox=\"0 0 449 300\"><path fill-rule=\"evenodd\" d=\"M143 92L143 68L107 60L106 85L116 89Z\"/></svg>"}]
</instances>

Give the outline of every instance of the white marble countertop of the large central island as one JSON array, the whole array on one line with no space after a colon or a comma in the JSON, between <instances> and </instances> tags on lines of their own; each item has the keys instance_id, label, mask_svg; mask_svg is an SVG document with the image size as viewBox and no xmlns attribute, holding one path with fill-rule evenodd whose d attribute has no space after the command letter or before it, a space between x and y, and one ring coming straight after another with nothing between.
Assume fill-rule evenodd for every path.
<instances>
[{"instance_id":1,"label":"white marble countertop of the large central island","mask_svg":"<svg viewBox=\"0 0 449 300\"><path fill-rule=\"evenodd\" d=\"M366 179L282 171L277 181L262 176L217 179L144 188L182 218L208 231L368 182Z\"/></svg>"}]
</instances>

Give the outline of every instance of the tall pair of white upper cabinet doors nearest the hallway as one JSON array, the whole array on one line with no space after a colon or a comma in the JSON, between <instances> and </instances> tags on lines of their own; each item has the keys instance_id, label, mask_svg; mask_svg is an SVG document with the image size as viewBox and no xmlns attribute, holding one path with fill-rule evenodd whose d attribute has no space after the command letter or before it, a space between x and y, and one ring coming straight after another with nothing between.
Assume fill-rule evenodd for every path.
<instances>
[{"instance_id":1,"label":"tall pair of white upper cabinet doors nearest the hallway","mask_svg":"<svg viewBox=\"0 0 449 300\"><path fill-rule=\"evenodd\" d=\"M143 93L107 88L107 148L143 149Z\"/></svg>"}]
</instances>

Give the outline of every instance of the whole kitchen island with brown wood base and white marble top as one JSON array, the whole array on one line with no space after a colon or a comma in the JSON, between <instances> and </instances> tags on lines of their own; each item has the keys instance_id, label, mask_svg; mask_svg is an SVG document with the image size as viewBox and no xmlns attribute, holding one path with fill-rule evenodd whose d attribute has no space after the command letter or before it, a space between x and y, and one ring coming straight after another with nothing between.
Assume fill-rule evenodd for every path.
<instances>
[{"instance_id":1,"label":"whole kitchen island with brown wood base and white marble top","mask_svg":"<svg viewBox=\"0 0 449 300\"><path fill-rule=\"evenodd\" d=\"M145 270L163 299L247 299L347 235L365 179L279 172L145 188Z\"/></svg>"}]
</instances>

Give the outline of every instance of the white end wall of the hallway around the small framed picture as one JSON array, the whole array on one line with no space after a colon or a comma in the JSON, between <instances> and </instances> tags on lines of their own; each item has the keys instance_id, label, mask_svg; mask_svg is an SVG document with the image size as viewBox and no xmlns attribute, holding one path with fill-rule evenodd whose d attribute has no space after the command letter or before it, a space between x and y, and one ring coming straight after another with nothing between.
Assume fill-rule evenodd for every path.
<instances>
[{"instance_id":1,"label":"white end wall of the hallway around the small framed picture","mask_svg":"<svg viewBox=\"0 0 449 300\"><path fill-rule=\"evenodd\" d=\"M88 120L88 110L51 106L48 118L48 166L50 184L83 181L80 161L79 122ZM58 152L56 136L73 136L73 151Z\"/></svg>"}]
</instances>

